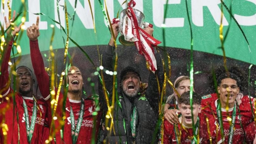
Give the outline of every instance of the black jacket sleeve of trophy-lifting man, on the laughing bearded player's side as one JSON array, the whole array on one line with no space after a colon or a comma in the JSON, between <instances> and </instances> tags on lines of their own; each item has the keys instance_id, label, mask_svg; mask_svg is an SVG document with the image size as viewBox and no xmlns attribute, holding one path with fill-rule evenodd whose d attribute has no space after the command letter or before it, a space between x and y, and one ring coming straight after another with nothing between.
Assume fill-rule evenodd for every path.
<instances>
[{"instance_id":1,"label":"black jacket sleeve of trophy-lifting man, on the laughing bearded player's side","mask_svg":"<svg viewBox=\"0 0 256 144\"><path fill-rule=\"evenodd\" d=\"M106 50L102 53L102 66L104 69L109 71L113 71L113 56L114 56L114 47L108 45ZM106 71L106 70L105 70ZM101 71L100 71L101 74ZM105 81L105 86L107 91L109 92L109 101L111 101L112 88L113 88L113 76L107 75L103 70L103 78ZM98 78L98 91L99 91L99 101L101 104L101 110L107 111L107 101L103 91L103 85L101 84L100 78Z\"/></svg>"}]
</instances>

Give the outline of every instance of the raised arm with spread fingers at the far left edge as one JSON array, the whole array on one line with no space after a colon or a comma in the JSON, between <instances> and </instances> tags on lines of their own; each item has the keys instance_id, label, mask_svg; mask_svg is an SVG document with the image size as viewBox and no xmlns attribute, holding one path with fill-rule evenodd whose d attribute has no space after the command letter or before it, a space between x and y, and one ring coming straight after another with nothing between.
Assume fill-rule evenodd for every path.
<instances>
[{"instance_id":1,"label":"raised arm with spread fingers at the far left edge","mask_svg":"<svg viewBox=\"0 0 256 144\"><path fill-rule=\"evenodd\" d=\"M12 21L14 21L14 19L15 19L15 10L13 11ZM8 28L12 21L10 20L7 21L6 16L4 17L4 21L5 21L6 28ZM0 75L0 91L2 92L0 94L2 94L3 96L6 96L6 94L10 92L9 87L6 87L9 80L8 62L10 60L13 39L16 33L19 33L20 29L21 29L21 25L18 27L15 26L14 30L9 28L9 30L7 31L6 42L8 44L4 47L4 53L2 55L2 63L1 63L1 75Z\"/></svg>"}]
</instances>

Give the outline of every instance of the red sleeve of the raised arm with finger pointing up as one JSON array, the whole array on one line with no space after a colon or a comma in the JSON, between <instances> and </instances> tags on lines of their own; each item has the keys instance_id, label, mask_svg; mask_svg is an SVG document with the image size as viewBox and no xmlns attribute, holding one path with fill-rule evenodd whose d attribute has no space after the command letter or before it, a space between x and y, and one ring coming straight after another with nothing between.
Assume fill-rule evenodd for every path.
<instances>
[{"instance_id":1,"label":"red sleeve of the raised arm with finger pointing up","mask_svg":"<svg viewBox=\"0 0 256 144\"><path fill-rule=\"evenodd\" d=\"M45 100L50 98L50 80L49 75L45 71L43 57L40 53L38 40L29 41L30 56L33 65L34 73L38 82L40 92ZM48 97L49 96L49 97ZM47 99L46 99L47 98Z\"/></svg>"}]
</instances>

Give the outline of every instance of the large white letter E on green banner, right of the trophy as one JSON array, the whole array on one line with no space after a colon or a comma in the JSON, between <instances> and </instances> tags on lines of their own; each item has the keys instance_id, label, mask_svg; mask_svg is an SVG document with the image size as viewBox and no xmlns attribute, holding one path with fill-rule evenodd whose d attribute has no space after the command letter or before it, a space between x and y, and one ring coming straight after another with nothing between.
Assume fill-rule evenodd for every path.
<instances>
[{"instance_id":1,"label":"large white letter E on green banner, right of the trophy","mask_svg":"<svg viewBox=\"0 0 256 144\"><path fill-rule=\"evenodd\" d=\"M164 4L167 0L152 0L153 22L156 27L162 27ZM180 4L180 0L168 1L168 4ZM165 18L166 27L184 27L184 18Z\"/></svg>"}]
</instances>

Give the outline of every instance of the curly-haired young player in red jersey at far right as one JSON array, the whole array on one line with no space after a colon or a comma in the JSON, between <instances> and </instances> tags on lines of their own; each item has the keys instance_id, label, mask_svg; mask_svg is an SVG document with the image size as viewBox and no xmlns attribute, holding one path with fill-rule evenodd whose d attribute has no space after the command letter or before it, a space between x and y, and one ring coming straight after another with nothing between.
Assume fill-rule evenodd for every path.
<instances>
[{"instance_id":1,"label":"curly-haired young player in red jersey at far right","mask_svg":"<svg viewBox=\"0 0 256 144\"><path fill-rule=\"evenodd\" d=\"M221 125L223 122L223 139L218 136L218 143L224 141L225 143L236 143L240 144L243 141L247 142L245 138L245 128L253 121L253 112L250 106L251 102L254 102L253 97L244 96L241 99L241 104L238 105L236 102L236 96L239 93L239 82L240 79L233 73L221 74L218 79L218 93L209 94L202 97L202 107L205 107L203 113L209 117L210 123L214 123L210 127L212 135L216 135L216 126L218 125L218 133L222 132ZM227 109L228 107L228 109ZM222 118L221 118L222 112ZM231 123L231 124L230 124ZM235 128L235 129L233 129Z\"/></svg>"}]
</instances>

